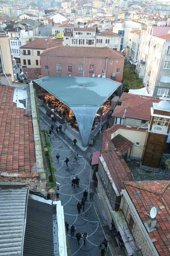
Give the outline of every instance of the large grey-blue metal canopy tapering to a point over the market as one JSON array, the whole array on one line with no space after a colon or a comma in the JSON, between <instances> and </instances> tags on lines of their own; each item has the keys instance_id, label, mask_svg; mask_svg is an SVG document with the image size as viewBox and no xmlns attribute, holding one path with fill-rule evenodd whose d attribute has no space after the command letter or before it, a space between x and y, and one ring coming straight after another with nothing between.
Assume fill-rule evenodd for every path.
<instances>
[{"instance_id":1,"label":"large grey-blue metal canopy tapering to a point over the market","mask_svg":"<svg viewBox=\"0 0 170 256\"><path fill-rule=\"evenodd\" d=\"M48 76L33 81L74 113L83 146L88 145L97 110L122 85L108 78Z\"/></svg>"}]
</instances>

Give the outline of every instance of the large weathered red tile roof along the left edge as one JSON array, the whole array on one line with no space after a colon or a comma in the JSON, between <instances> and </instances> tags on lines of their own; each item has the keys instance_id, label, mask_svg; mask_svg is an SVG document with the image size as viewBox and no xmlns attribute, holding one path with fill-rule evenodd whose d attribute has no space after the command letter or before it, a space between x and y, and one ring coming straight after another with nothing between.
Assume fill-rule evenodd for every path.
<instances>
[{"instance_id":1,"label":"large weathered red tile roof along the left edge","mask_svg":"<svg viewBox=\"0 0 170 256\"><path fill-rule=\"evenodd\" d=\"M30 176L36 162L32 118L13 96L14 87L0 85L0 172Z\"/></svg>"}]
</instances>

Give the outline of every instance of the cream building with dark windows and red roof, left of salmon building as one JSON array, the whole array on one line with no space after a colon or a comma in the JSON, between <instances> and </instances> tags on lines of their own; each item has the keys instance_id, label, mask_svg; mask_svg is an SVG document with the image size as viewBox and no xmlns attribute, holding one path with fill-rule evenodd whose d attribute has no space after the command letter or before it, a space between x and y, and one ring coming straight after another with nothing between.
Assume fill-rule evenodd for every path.
<instances>
[{"instance_id":1,"label":"cream building with dark windows and red roof, left of salmon building","mask_svg":"<svg viewBox=\"0 0 170 256\"><path fill-rule=\"evenodd\" d=\"M62 39L37 38L20 47L21 65L24 68L41 68L40 54L50 47L62 44Z\"/></svg>"}]
</instances>

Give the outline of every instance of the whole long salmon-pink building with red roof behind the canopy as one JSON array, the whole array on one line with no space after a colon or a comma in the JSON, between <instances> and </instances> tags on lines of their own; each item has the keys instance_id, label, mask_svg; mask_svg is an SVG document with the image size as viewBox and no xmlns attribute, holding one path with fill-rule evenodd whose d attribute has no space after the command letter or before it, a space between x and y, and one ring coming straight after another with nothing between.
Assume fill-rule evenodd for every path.
<instances>
[{"instance_id":1,"label":"whole long salmon-pink building with red roof behind the canopy","mask_svg":"<svg viewBox=\"0 0 170 256\"><path fill-rule=\"evenodd\" d=\"M40 55L43 76L107 77L122 82L124 56L108 47L57 46Z\"/></svg>"}]
</instances>

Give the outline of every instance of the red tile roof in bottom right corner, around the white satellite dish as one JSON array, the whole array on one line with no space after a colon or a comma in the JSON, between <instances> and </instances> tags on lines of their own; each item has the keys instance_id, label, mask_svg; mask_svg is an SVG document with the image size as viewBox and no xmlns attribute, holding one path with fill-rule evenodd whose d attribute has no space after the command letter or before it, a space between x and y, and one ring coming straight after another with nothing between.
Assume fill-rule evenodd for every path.
<instances>
[{"instance_id":1,"label":"red tile roof in bottom right corner, around the white satellite dish","mask_svg":"<svg viewBox=\"0 0 170 256\"><path fill-rule=\"evenodd\" d=\"M124 186L142 222L147 221L144 212L150 214L156 207L156 230L148 234L159 255L170 255L170 181L125 182Z\"/></svg>"}]
</instances>

